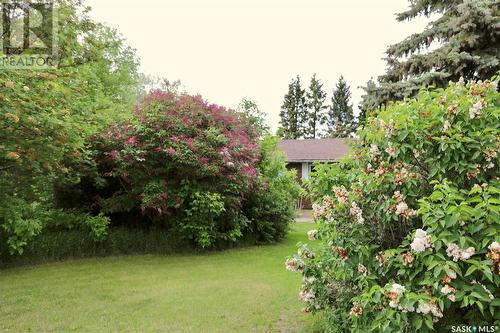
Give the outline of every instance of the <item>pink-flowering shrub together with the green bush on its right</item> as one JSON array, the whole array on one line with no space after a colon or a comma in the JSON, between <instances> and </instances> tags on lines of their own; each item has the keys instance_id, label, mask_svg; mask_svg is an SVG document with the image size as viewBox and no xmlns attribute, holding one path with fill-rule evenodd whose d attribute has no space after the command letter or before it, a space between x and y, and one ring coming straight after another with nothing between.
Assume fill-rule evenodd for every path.
<instances>
[{"instance_id":1,"label":"pink-flowering shrub together with the green bush on its right","mask_svg":"<svg viewBox=\"0 0 500 333\"><path fill-rule=\"evenodd\" d=\"M94 138L95 174L61 186L58 197L115 225L170 230L200 247L245 232L275 241L293 218L296 185L284 160L273 160L276 144L264 140L261 155L258 135L244 114L156 90L131 122Z\"/></svg>"}]
</instances>

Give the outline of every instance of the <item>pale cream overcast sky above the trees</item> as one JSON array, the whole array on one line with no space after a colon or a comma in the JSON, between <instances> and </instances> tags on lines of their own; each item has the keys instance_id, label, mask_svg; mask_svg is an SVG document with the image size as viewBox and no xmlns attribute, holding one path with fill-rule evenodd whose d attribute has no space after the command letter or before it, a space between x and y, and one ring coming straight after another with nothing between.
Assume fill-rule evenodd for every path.
<instances>
[{"instance_id":1,"label":"pale cream overcast sky above the trees","mask_svg":"<svg viewBox=\"0 0 500 333\"><path fill-rule=\"evenodd\" d=\"M141 71L236 108L257 102L275 130L290 80L313 73L331 96L340 75L358 88L383 74L384 51L428 20L398 23L407 0L88 0L91 16L137 49Z\"/></svg>"}]
</instances>

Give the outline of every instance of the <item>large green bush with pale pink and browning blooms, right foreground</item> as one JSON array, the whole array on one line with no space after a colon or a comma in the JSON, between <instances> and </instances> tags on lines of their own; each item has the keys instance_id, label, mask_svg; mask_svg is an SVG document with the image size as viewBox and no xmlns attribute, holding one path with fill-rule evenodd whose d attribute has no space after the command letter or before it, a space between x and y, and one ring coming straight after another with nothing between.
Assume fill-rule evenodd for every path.
<instances>
[{"instance_id":1,"label":"large green bush with pale pink and browning blooms, right foreground","mask_svg":"<svg viewBox=\"0 0 500 333\"><path fill-rule=\"evenodd\" d=\"M370 119L352 156L318 166L308 236L321 246L286 267L329 331L498 324L499 96L496 80L422 91Z\"/></svg>"}]
</instances>

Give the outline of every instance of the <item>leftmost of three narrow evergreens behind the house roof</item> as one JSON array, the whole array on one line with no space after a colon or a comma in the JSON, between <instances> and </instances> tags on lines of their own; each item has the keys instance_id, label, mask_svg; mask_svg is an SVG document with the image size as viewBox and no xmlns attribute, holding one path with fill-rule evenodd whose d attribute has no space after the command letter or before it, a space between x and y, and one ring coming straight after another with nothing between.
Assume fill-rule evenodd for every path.
<instances>
[{"instance_id":1,"label":"leftmost of three narrow evergreens behind the house roof","mask_svg":"<svg viewBox=\"0 0 500 333\"><path fill-rule=\"evenodd\" d=\"M299 139L304 137L307 119L307 107L305 91L302 89L300 77L288 85L288 93L285 95L280 111L280 128L278 135L284 139Z\"/></svg>"}]
</instances>

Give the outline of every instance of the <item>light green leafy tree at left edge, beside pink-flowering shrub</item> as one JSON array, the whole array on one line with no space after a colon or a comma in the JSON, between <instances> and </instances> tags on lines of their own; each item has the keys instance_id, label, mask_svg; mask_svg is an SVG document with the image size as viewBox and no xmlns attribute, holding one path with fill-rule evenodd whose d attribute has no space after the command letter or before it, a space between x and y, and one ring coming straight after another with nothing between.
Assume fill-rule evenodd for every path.
<instances>
[{"instance_id":1,"label":"light green leafy tree at left edge, beside pink-flowering shrub","mask_svg":"<svg viewBox=\"0 0 500 333\"><path fill-rule=\"evenodd\" d=\"M22 253L51 228L54 180L78 177L66 162L89 162L89 136L127 118L135 99L134 50L80 1L58 1L57 13L59 67L0 72L0 251Z\"/></svg>"}]
</instances>

